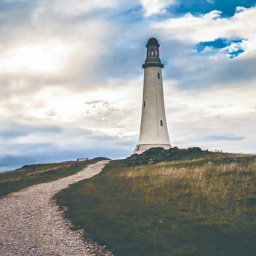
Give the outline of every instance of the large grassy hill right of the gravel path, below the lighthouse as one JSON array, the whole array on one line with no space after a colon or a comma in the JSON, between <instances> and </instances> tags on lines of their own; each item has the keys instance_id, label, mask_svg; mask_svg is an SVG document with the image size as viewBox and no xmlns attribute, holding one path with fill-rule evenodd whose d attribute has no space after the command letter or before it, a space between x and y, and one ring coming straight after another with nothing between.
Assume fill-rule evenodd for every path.
<instances>
[{"instance_id":1,"label":"large grassy hill right of the gravel path, below the lighthouse","mask_svg":"<svg viewBox=\"0 0 256 256\"><path fill-rule=\"evenodd\" d=\"M163 152L111 161L55 198L115 256L255 255L256 156Z\"/></svg>"}]
</instances>

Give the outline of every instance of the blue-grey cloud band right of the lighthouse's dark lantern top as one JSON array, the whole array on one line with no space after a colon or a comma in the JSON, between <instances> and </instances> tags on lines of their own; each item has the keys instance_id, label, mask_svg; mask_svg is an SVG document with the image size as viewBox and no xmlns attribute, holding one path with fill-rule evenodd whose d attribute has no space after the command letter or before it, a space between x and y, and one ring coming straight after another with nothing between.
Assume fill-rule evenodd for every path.
<instances>
[{"instance_id":1,"label":"blue-grey cloud band right of the lighthouse's dark lantern top","mask_svg":"<svg viewBox=\"0 0 256 256\"><path fill-rule=\"evenodd\" d=\"M211 87L216 84L237 84L256 78L255 56L233 59L210 58L193 53L194 45L173 40L164 42L162 61L165 79L175 79L181 89Z\"/></svg>"}]
</instances>

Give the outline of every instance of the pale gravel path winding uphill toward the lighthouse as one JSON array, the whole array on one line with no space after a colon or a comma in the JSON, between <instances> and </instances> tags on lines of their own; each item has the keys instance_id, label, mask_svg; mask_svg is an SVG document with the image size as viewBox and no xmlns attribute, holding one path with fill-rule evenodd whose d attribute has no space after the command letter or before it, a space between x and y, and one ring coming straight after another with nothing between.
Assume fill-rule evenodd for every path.
<instances>
[{"instance_id":1,"label":"pale gravel path winding uphill toward the lighthouse","mask_svg":"<svg viewBox=\"0 0 256 256\"><path fill-rule=\"evenodd\" d=\"M101 172L109 161L88 165L82 171L59 180L34 185L0 200L1 256L91 256L112 255L83 231L71 231L52 196L69 184Z\"/></svg>"}]
</instances>

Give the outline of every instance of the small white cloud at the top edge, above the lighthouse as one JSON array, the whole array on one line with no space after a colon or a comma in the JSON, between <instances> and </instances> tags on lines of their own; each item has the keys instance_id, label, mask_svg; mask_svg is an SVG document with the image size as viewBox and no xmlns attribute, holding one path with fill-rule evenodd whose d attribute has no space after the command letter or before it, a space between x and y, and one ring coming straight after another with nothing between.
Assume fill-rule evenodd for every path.
<instances>
[{"instance_id":1,"label":"small white cloud at the top edge, above the lighthouse","mask_svg":"<svg viewBox=\"0 0 256 256\"><path fill-rule=\"evenodd\" d=\"M177 4L176 0L140 0L145 16L161 14L166 12L166 7Z\"/></svg>"}]
</instances>

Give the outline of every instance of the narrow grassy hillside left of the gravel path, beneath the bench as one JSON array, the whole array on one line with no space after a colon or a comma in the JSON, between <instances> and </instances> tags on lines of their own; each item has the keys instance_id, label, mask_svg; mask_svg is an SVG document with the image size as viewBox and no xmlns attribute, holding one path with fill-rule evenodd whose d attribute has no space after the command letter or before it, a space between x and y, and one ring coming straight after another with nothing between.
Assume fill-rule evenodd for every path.
<instances>
[{"instance_id":1,"label":"narrow grassy hillside left of the gravel path, beneath the bench","mask_svg":"<svg viewBox=\"0 0 256 256\"><path fill-rule=\"evenodd\" d=\"M24 165L20 169L0 173L0 198L9 192L72 175L88 164L106 159L108 158L98 157L82 162L68 161L54 164Z\"/></svg>"}]
</instances>

